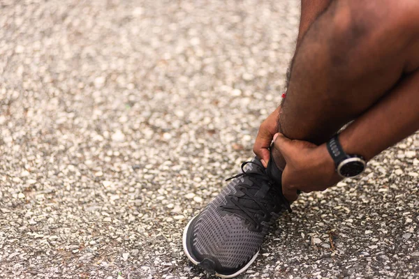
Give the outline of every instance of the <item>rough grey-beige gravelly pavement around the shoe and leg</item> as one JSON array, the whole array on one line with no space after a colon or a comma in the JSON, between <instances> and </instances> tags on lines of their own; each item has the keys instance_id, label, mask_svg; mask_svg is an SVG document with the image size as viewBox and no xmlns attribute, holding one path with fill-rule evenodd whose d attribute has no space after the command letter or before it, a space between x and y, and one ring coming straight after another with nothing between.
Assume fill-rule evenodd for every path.
<instances>
[{"instance_id":1,"label":"rough grey-beige gravelly pavement around the shoe and leg","mask_svg":"<svg viewBox=\"0 0 419 279\"><path fill-rule=\"evenodd\" d=\"M207 278L182 229L252 156L297 1L0 1L0 277ZM418 278L419 134L302 195L240 278ZM212 276L208 276L212 278Z\"/></svg>"}]
</instances>

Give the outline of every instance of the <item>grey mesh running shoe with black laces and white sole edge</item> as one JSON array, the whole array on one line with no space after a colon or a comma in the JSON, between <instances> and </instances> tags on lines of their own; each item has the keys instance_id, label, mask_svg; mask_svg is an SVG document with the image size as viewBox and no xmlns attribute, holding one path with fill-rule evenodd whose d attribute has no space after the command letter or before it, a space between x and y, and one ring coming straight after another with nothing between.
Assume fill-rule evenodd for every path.
<instances>
[{"instance_id":1,"label":"grey mesh running shoe with black laces and white sole edge","mask_svg":"<svg viewBox=\"0 0 419 279\"><path fill-rule=\"evenodd\" d=\"M183 248L191 262L221 278L246 271L270 225L285 209L291 212L281 175L272 159L266 169L258 158L244 162L242 173L186 225Z\"/></svg>"}]
</instances>

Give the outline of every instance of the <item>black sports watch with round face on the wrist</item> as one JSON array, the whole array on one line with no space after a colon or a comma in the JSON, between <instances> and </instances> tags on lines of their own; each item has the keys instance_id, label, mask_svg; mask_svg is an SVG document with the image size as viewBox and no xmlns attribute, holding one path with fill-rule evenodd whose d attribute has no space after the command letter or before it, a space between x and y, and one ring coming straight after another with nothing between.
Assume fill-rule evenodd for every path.
<instances>
[{"instance_id":1,"label":"black sports watch with round face on the wrist","mask_svg":"<svg viewBox=\"0 0 419 279\"><path fill-rule=\"evenodd\" d=\"M335 162L336 172L343 178L355 177L364 172L367 162L362 156L346 154L339 142L339 135L335 135L326 144L330 156Z\"/></svg>"}]
</instances>

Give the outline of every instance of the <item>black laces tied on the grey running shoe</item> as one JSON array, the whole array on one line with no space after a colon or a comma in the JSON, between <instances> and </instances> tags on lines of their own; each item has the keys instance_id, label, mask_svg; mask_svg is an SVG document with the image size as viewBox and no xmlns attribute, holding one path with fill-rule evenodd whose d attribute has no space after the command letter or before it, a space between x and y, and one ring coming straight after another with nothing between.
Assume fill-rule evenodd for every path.
<instances>
[{"instance_id":1,"label":"black laces tied on the grey running shoe","mask_svg":"<svg viewBox=\"0 0 419 279\"><path fill-rule=\"evenodd\" d=\"M260 228L260 222L258 222L258 220L255 217L255 213L258 214L259 216L262 216L263 218L266 218L267 216L270 216L271 212L269 211L269 209L267 209L267 207L265 206L266 200L269 198L273 199L273 202L282 206L283 208L287 209L288 212L291 212L291 206L288 202L288 200L286 200L286 198L284 197L284 195L281 192L281 189L277 189L276 187L274 187L274 180L268 176L265 172L246 172L244 170L244 167L247 164L253 164L253 165L257 165L258 167L261 167L261 169L264 169L263 165L259 165L258 163L255 162L251 162L251 161L247 161L242 163L242 173L241 174L237 174L235 176L230 177L229 179L226 179L226 181L230 181L231 179L237 179L241 176L250 176L251 177L251 181L253 182L253 185L247 185L244 183L239 183L237 184L237 186L242 186L242 193L244 193L244 195L242 196L238 196L238 195L229 195L230 197L235 197L237 199L230 199L230 201L233 203L233 206L229 206L229 204L226 204L225 206L221 206L225 211L231 212L231 213L244 213L244 218L246 218L247 220L249 220L251 223L253 223L253 225L255 225L256 229ZM251 195L249 193L247 193L247 190L245 190L246 188L253 188L254 186L259 186L261 187L263 182L266 182L270 189L269 191L273 194L273 195L267 195L267 197L265 197L264 199L261 199L259 197L255 197L255 195ZM258 205L259 209L253 209L253 208L249 208L249 206L245 206L244 204L240 203L240 199L247 199L247 200L251 200L253 202L255 202L255 204ZM239 212L240 211L240 212ZM243 216L243 214L240 214Z\"/></svg>"}]
</instances>

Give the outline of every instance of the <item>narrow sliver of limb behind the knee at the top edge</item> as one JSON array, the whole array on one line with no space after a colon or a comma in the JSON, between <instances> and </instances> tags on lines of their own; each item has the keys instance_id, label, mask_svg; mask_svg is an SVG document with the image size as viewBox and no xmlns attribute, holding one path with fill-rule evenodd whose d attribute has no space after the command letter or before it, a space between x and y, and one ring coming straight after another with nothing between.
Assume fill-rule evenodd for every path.
<instances>
[{"instance_id":1,"label":"narrow sliver of limb behind the knee at the top edge","mask_svg":"<svg viewBox=\"0 0 419 279\"><path fill-rule=\"evenodd\" d=\"M323 10L328 8L331 0L301 0L301 18L300 27L298 29L297 45L307 29L309 29L311 23L316 20Z\"/></svg>"}]
</instances>

